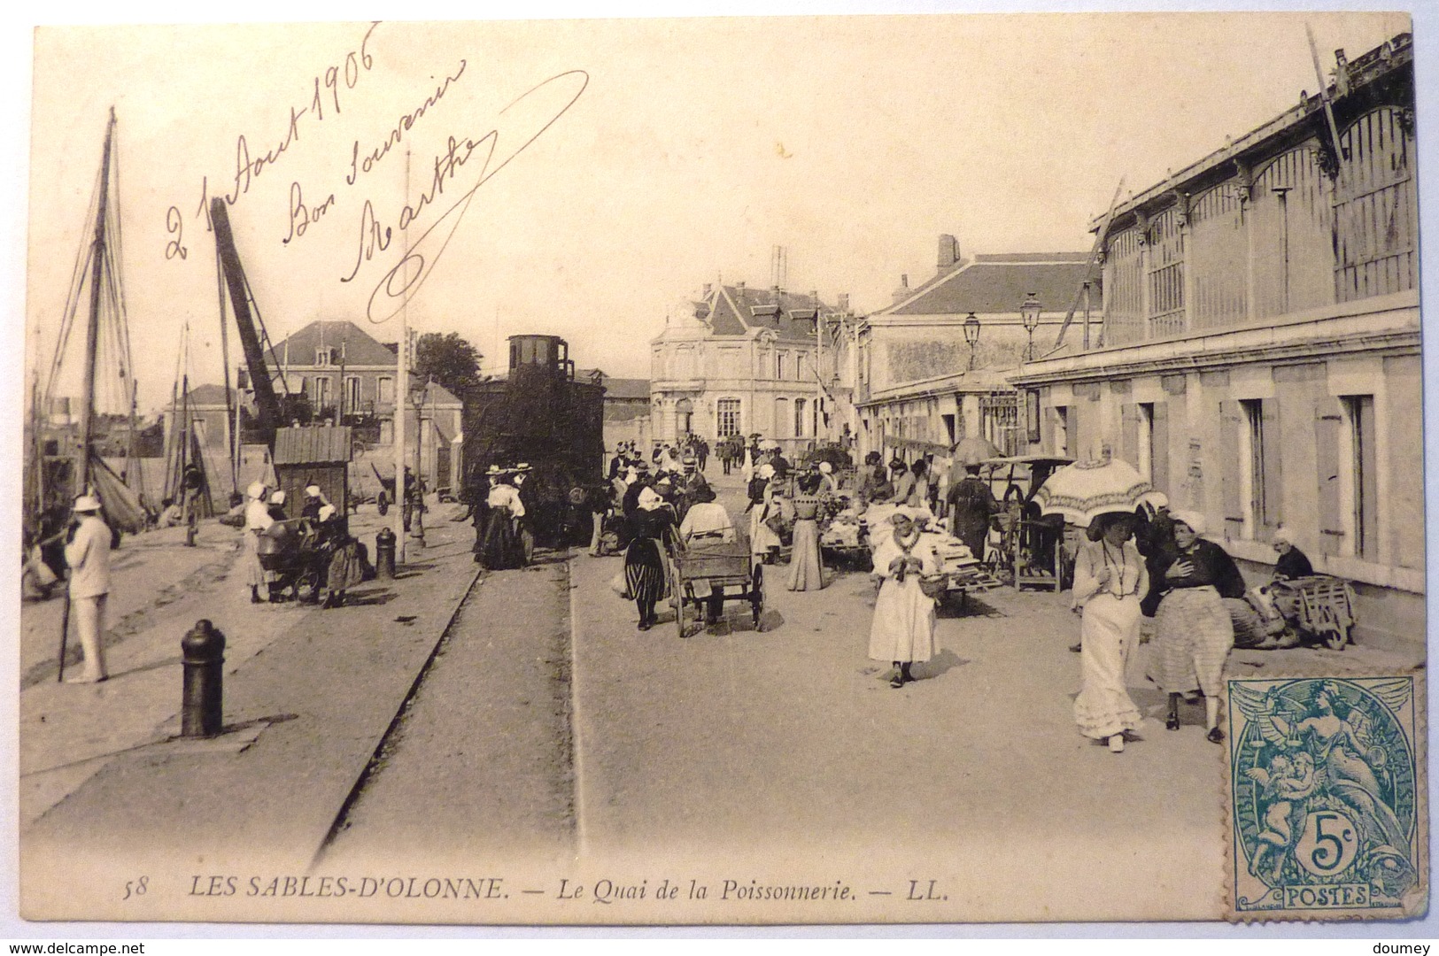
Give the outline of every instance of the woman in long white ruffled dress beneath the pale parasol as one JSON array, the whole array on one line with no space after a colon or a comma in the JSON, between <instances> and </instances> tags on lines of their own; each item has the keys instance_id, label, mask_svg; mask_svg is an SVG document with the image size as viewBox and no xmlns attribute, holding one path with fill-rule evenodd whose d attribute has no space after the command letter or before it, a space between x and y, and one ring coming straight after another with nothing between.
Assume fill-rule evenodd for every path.
<instances>
[{"instance_id":1,"label":"woman in long white ruffled dress beneath the pale parasol","mask_svg":"<svg viewBox=\"0 0 1439 956\"><path fill-rule=\"evenodd\" d=\"M1073 607L1084 615L1075 723L1120 753L1124 733L1138 730L1143 719L1124 671L1140 643L1140 601L1150 575L1134 546L1131 516L1101 515L1095 525L1098 539L1086 541L1075 558Z\"/></svg>"}]
</instances>

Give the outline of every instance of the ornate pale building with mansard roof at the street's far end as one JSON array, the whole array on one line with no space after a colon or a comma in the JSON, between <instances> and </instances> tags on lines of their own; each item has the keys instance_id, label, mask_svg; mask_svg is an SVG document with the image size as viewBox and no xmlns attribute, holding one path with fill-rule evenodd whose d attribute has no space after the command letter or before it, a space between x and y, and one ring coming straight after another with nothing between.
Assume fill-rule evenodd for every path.
<instances>
[{"instance_id":1,"label":"ornate pale building with mansard roof at the street's far end","mask_svg":"<svg viewBox=\"0 0 1439 956\"><path fill-rule=\"evenodd\" d=\"M682 303L650 342L652 440L760 433L799 453L833 434L832 374L825 388L816 375L816 311L836 313L814 295L743 282L707 285ZM819 361L832 372L832 355Z\"/></svg>"}]
</instances>

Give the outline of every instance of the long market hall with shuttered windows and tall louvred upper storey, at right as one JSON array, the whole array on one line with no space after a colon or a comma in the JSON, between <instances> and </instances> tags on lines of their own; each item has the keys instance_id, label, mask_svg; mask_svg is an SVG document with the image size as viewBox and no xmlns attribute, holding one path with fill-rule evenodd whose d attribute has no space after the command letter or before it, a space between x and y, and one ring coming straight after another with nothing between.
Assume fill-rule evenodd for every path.
<instances>
[{"instance_id":1,"label":"long market hall with shuttered windows and tall louvred upper storey, at right","mask_svg":"<svg viewBox=\"0 0 1439 956\"><path fill-rule=\"evenodd\" d=\"M1097 221L1102 338L1012 377L1046 450L1108 444L1253 579L1284 525L1354 582L1358 640L1425 638L1415 157L1412 37L1338 50L1322 95Z\"/></svg>"}]
</instances>

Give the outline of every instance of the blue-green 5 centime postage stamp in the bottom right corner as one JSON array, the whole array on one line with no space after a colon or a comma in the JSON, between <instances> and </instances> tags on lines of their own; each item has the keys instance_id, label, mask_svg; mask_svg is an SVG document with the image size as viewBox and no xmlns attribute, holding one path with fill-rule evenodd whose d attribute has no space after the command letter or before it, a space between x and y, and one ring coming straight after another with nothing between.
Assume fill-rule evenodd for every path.
<instances>
[{"instance_id":1,"label":"blue-green 5 centime postage stamp in the bottom right corner","mask_svg":"<svg viewBox=\"0 0 1439 956\"><path fill-rule=\"evenodd\" d=\"M1229 919L1426 910L1422 697L1413 676L1229 680Z\"/></svg>"}]
</instances>

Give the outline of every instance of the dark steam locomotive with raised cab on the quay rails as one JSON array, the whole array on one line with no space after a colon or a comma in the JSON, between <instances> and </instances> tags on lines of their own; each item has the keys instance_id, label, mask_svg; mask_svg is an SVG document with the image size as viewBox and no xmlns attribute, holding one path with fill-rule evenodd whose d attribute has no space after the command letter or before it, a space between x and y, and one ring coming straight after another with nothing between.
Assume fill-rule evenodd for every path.
<instances>
[{"instance_id":1,"label":"dark steam locomotive with raised cab on the quay rails","mask_svg":"<svg viewBox=\"0 0 1439 956\"><path fill-rule=\"evenodd\" d=\"M586 543L604 487L604 387L576 381L568 344L511 335L509 374L462 395L462 500L484 502L489 466L528 463L532 526L544 546Z\"/></svg>"}]
</instances>

